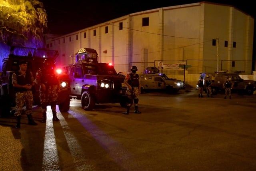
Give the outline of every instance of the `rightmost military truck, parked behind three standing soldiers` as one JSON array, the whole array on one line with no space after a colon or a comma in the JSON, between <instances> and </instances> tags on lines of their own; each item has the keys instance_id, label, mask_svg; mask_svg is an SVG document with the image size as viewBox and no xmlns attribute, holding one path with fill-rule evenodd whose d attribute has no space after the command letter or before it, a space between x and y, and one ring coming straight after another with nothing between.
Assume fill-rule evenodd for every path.
<instances>
[{"instance_id":1,"label":"rightmost military truck, parked behind three standing soldiers","mask_svg":"<svg viewBox=\"0 0 256 171\"><path fill-rule=\"evenodd\" d=\"M223 72L212 72L212 73L201 73L199 79L210 77L212 80L212 93L216 95L221 91L225 91L223 87L223 83L227 80L227 78L231 78L234 83L232 92L244 93L247 95L252 95L254 93L256 87L256 81L253 80L243 80L239 74L244 73L244 71L237 71L229 73L228 71ZM198 88L198 87L197 87ZM204 89L206 91L206 89Z\"/></svg>"}]
</instances>

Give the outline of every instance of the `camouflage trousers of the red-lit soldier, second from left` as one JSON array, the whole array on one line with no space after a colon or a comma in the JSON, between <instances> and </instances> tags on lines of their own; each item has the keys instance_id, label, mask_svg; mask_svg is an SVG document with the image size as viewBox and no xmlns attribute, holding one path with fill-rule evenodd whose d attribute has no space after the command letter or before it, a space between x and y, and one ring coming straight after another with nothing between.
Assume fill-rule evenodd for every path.
<instances>
[{"instance_id":1,"label":"camouflage trousers of the red-lit soldier, second from left","mask_svg":"<svg viewBox=\"0 0 256 171\"><path fill-rule=\"evenodd\" d=\"M46 87L46 91L39 91L40 102L42 104L42 113L46 113L47 105L51 105L52 111L56 111L56 102L58 99L58 86L49 85Z\"/></svg>"}]
</instances>

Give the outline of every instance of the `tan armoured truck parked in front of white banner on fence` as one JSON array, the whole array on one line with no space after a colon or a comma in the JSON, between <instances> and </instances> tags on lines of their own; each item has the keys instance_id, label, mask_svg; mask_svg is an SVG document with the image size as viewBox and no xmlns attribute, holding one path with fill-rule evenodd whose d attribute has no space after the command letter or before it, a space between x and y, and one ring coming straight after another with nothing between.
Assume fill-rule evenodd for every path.
<instances>
[{"instance_id":1,"label":"tan armoured truck parked in front of white banner on fence","mask_svg":"<svg viewBox=\"0 0 256 171\"><path fill-rule=\"evenodd\" d=\"M184 82L174 78L168 78L166 74L159 73L156 67L147 67L144 74L140 74L141 92L152 90L164 90L166 93L178 93L184 89Z\"/></svg>"}]
</instances>

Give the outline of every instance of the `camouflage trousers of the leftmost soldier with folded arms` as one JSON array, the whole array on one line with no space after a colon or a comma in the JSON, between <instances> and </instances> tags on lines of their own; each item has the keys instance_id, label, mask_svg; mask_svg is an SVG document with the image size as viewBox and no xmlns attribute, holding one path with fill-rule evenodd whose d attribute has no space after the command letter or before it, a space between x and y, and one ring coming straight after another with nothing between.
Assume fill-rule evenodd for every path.
<instances>
[{"instance_id":1,"label":"camouflage trousers of the leftmost soldier with folded arms","mask_svg":"<svg viewBox=\"0 0 256 171\"><path fill-rule=\"evenodd\" d=\"M16 93L16 109L14 116L19 116L22 114L22 108L24 103L26 104L26 115L32 114L32 105L33 105L33 93L32 91L23 91Z\"/></svg>"}]
</instances>

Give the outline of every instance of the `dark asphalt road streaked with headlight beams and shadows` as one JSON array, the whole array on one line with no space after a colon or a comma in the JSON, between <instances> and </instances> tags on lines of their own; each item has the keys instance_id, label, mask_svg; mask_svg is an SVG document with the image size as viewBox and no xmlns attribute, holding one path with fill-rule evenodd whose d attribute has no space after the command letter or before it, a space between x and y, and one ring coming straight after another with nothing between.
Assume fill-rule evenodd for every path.
<instances>
[{"instance_id":1,"label":"dark asphalt road streaked with headlight beams and shadows","mask_svg":"<svg viewBox=\"0 0 256 171\"><path fill-rule=\"evenodd\" d=\"M198 98L197 90L140 95L141 114L119 104L84 111L72 99L60 122L0 118L0 170L255 171L256 94ZM133 111L134 108L131 108Z\"/></svg>"}]
</instances>

